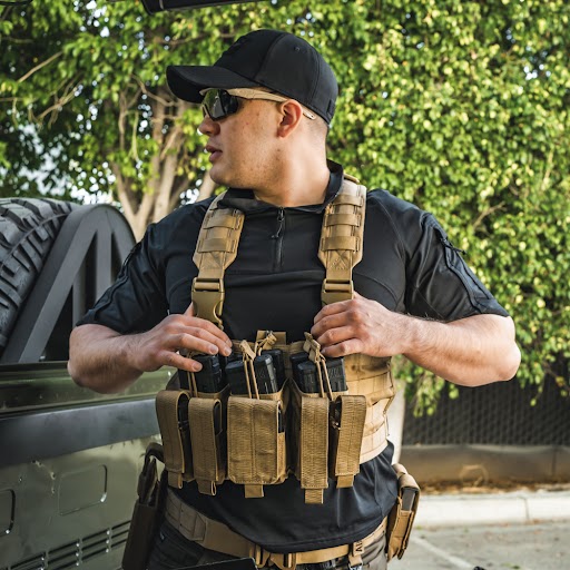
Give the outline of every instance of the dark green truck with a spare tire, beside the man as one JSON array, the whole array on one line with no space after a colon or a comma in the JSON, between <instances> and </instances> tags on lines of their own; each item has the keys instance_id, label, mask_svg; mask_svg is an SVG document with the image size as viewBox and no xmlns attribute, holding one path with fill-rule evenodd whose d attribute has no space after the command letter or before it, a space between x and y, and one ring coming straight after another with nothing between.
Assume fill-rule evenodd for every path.
<instances>
[{"instance_id":1,"label":"dark green truck with a spare tire, beside the man","mask_svg":"<svg viewBox=\"0 0 570 570\"><path fill-rule=\"evenodd\" d=\"M120 569L173 371L97 394L66 361L73 323L134 242L110 206L0 199L0 570Z\"/></svg>"}]
</instances>

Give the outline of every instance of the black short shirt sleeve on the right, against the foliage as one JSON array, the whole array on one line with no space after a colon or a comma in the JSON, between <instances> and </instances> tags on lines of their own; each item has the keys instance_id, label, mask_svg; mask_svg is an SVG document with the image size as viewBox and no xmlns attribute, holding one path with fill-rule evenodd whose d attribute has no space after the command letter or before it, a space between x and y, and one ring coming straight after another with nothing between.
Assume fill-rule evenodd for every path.
<instances>
[{"instance_id":1,"label":"black short shirt sleeve on the right, against the foliage","mask_svg":"<svg viewBox=\"0 0 570 570\"><path fill-rule=\"evenodd\" d=\"M436 219L417 212L419 232L411 232L415 238L406 244L406 311L414 316L448 322L478 314L508 316Z\"/></svg>"}]
</instances>

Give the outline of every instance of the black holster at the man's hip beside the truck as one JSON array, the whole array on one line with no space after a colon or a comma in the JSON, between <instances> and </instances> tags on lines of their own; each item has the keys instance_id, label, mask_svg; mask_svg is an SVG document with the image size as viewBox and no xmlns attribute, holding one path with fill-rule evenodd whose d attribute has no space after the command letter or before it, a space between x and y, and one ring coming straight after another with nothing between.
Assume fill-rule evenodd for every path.
<instances>
[{"instance_id":1,"label":"black holster at the man's hip beside the truck","mask_svg":"<svg viewBox=\"0 0 570 570\"><path fill-rule=\"evenodd\" d=\"M129 534L122 554L122 570L145 570L160 524L167 489L167 473L158 478L156 462L164 462L163 446L150 443L138 479L137 500L132 511Z\"/></svg>"}]
</instances>

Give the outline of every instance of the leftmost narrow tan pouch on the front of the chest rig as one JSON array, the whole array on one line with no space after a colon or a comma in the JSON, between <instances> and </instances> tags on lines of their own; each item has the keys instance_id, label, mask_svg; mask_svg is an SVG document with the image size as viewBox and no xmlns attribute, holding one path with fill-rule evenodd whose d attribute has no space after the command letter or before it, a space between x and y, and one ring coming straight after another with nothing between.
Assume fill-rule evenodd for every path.
<instances>
[{"instance_id":1,"label":"leftmost narrow tan pouch on the front of the chest rig","mask_svg":"<svg viewBox=\"0 0 570 570\"><path fill-rule=\"evenodd\" d=\"M188 405L190 393L186 390L161 390L156 396L156 415L163 436L165 466L168 484L181 489L184 475L191 472L191 453L179 422L179 409Z\"/></svg>"}]
</instances>

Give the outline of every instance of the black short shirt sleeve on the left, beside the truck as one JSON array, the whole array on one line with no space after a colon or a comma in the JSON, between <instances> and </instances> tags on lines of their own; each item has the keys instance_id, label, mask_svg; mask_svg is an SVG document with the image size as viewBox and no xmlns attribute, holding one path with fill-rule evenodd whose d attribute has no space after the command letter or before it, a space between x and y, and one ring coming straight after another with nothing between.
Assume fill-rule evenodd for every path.
<instances>
[{"instance_id":1,"label":"black short shirt sleeve on the left, beside the truck","mask_svg":"<svg viewBox=\"0 0 570 570\"><path fill-rule=\"evenodd\" d=\"M77 325L99 324L135 334L153 328L167 316L164 271L156 255L160 243L156 225L149 226L125 259L115 284Z\"/></svg>"}]
</instances>

